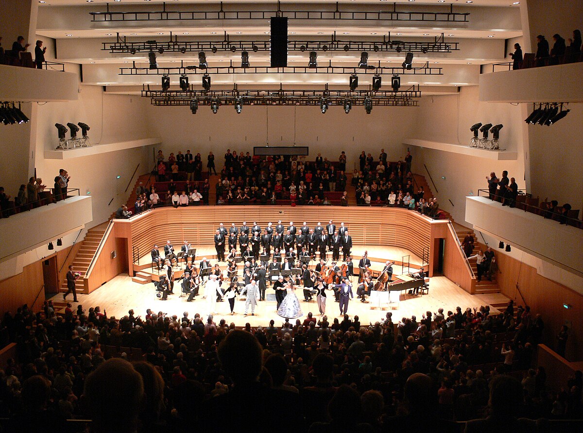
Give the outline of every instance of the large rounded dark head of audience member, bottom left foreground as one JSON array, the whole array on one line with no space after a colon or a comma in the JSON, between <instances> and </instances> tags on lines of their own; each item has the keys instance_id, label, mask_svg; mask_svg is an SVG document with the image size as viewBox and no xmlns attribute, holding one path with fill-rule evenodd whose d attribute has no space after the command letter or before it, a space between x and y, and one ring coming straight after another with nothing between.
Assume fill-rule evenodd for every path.
<instances>
[{"instance_id":1,"label":"large rounded dark head of audience member, bottom left foreground","mask_svg":"<svg viewBox=\"0 0 583 433\"><path fill-rule=\"evenodd\" d=\"M142 376L128 361L112 358L85 380L85 407L96 433L133 433L145 397Z\"/></svg>"}]
</instances>

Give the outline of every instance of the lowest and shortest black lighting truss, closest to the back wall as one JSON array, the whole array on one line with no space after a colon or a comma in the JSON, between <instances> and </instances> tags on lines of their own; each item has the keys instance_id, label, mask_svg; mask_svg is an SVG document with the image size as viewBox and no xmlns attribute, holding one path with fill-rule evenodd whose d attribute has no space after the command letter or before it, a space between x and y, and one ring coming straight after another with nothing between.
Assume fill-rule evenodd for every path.
<instances>
[{"instance_id":1,"label":"lowest and shortest black lighting truss, closest to the back wall","mask_svg":"<svg viewBox=\"0 0 583 433\"><path fill-rule=\"evenodd\" d=\"M419 86L411 86L401 91L381 90L238 90L236 87L230 90L150 90L149 86L143 87L142 97L150 98L150 103L157 106L188 106L193 99L199 105L210 105L212 101L219 101L220 105L235 105L239 101L242 105L320 105L323 95L330 107L339 105L343 107L346 100L350 100L352 106L364 105L366 99L373 101L373 105L391 107L417 107L417 99L421 97Z\"/></svg>"}]
</instances>

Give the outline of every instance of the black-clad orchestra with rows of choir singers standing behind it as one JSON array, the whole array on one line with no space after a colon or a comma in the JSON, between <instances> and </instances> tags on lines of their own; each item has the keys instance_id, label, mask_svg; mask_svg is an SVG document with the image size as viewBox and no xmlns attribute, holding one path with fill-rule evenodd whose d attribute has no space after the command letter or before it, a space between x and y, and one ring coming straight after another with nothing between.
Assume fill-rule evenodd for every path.
<instances>
[{"instance_id":1,"label":"black-clad orchestra with rows of choir singers standing behind it","mask_svg":"<svg viewBox=\"0 0 583 433\"><path fill-rule=\"evenodd\" d=\"M315 297L318 302L318 309L321 315L326 309L326 293L332 289L335 301L339 302L340 313L345 314L348 309L352 294L352 276L354 276L354 262L352 255L352 237L349 235L348 227L341 222L339 227L332 220L326 226L317 223L310 227L306 221L299 227L294 226L290 221L289 226L284 226L279 220L273 226L269 223L263 230L253 222L247 226L243 221L240 227L232 223L229 230L223 223L219 224L214 234L214 245L216 249L217 262L225 262L226 276L219 266L219 263L211 265L210 260L204 257L198 269L195 266L195 249L184 240L181 246L181 253L177 256L171 240L164 245L164 258L160 256L157 245L150 251L152 256L152 266L156 265L159 272L159 283L157 291L161 300L166 300L168 295L173 294L175 270L173 265L178 265L180 258L184 259L185 268L181 281L181 293L186 301L192 302L199 295L201 287L209 291L208 281L205 277L213 276L215 294L210 296L215 300L208 300L208 306L214 310L214 302L222 301L227 297L233 312L234 301L237 298L241 286L247 286L251 281L255 281L259 289L259 301L265 301L265 291L267 284L272 284L275 290L276 301L281 304L286 291L282 289L291 280L299 285L300 281L304 287L304 302L310 302ZM226 248L229 254L225 256ZM340 261L340 250L343 257ZM315 266L310 265L312 260L316 260L316 252L319 252L319 260ZM332 260L328 264L328 254L331 253ZM243 262L241 275L238 275L238 263ZM417 273L400 275L393 279L395 261L387 260L378 276L375 278L371 269L371 260L368 258L368 251L365 251L358 262L359 278L357 280L356 295L361 302L367 302L373 292L381 291L401 291L409 290L409 294L419 294L419 289L425 283L426 272L423 267ZM378 270L376 271L378 272ZM178 273L180 274L180 273ZM223 286L224 287L221 287ZM216 286L216 287L215 287ZM210 286L208 286L210 287ZM373 298L371 298L372 300Z\"/></svg>"}]
</instances>

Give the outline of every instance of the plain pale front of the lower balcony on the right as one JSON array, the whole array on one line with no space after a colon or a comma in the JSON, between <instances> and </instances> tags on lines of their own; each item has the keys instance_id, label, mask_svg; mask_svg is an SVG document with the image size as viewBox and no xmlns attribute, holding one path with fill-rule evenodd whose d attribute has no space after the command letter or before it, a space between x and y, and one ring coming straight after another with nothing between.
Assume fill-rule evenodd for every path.
<instances>
[{"instance_id":1,"label":"plain pale front of the lower balcony on the right","mask_svg":"<svg viewBox=\"0 0 583 433\"><path fill-rule=\"evenodd\" d=\"M466 197L466 221L512 247L583 277L583 230L486 197Z\"/></svg>"}]
</instances>

